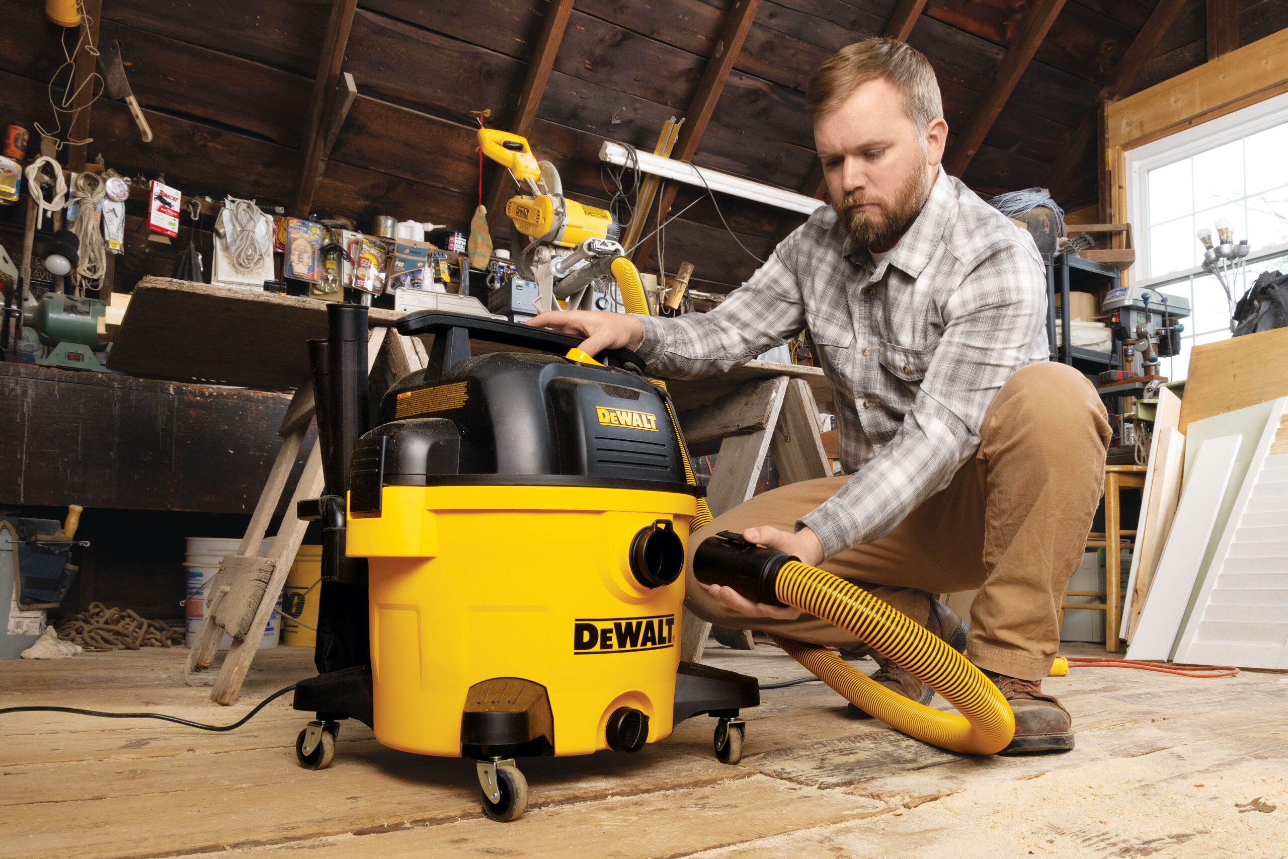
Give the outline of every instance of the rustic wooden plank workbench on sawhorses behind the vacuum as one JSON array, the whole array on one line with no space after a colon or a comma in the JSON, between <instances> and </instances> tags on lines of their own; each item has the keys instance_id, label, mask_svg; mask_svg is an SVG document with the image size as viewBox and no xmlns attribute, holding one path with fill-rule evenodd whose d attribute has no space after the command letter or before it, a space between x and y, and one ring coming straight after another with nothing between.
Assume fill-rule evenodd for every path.
<instances>
[{"instance_id":1,"label":"rustic wooden plank workbench on sawhorses behind the vacuum","mask_svg":"<svg viewBox=\"0 0 1288 859\"><path fill-rule=\"evenodd\" d=\"M370 314L368 371L377 390L380 384L424 367L433 348L431 335L411 339L392 331L399 317L383 309ZM131 294L108 357L108 368L134 376L295 392L282 417L277 460L238 551L225 558L220 580L211 587L206 626L188 659L189 681L201 683L224 632L222 625L229 623L229 631L233 626L238 631L246 627L245 635L233 635L233 647L214 683L211 698L220 703L237 699L273 598L304 537L305 523L287 516L269 558L259 558L265 528L290 484L291 466L305 449L313 417L305 341L325 337L326 332L326 304L313 299L144 278ZM471 346L474 354L516 349L484 341L471 341ZM831 474L818 431L817 401L831 399L820 370L752 361L721 376L675 380L668 388L690 443L720 446L717 469L707 487L714 514L751 497L769 452L784 483ZM295 482L290 506L321 491L321 456L314 444ZM254 594L254 589L245 589L252 577L264 581L258 605L249 601L254 596L245 596ZM222 603L224 596L228 601ZM685 625L681 650L696 661L710 625L692 616L687 616Z\"/></svg>"}]
</instances>

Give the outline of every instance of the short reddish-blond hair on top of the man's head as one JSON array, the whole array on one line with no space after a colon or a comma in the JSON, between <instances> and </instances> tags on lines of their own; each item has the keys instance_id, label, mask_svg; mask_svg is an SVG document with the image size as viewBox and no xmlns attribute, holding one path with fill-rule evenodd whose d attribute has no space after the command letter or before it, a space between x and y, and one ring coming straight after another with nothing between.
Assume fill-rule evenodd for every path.
<instances>
[{"instance_id":1,"label":"short reddish-blond hair on top of the man's head","mask_svg":"<svg viewBox=\"0 0 1288 859\"><path fill-rule=\"evenodd\" d=\"M916 48L894 39L864 39L846 45L818 67L805 94L817 118L837 107L859 84L885 77L903 98L903 109L925 137L931 120L944 115L939 81L930 61Z\"/></svg>"}]
</instances>

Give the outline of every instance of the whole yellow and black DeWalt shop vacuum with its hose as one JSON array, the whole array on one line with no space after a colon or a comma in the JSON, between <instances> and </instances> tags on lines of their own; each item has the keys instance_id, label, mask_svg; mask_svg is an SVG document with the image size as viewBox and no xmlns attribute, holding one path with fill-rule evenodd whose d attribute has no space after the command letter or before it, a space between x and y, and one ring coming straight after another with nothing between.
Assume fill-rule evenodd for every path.
<instances>
[{"instance_id":1,"label":"whole yellow and black DeWalt shop vacuum with its hose","mask_svg":"<svg viewBox=\"0 0 1288 859\"><path fill-rule=\"evenodd\" d=\"M647 312L629 278L627 309ZM335 756L357 719L392 748L478 762L483 811L514 820L522 756L634 752L685 719L716 719L716 757L737 764L757 683L681 662L685 549L711 514L661 382L629 352L600 361L578 340L425 310L429 364L372 415L367 309L327 308L309 343L325 495L314 662L295 686L316 713L295 751ZM474 340L504 350L471 355ZM601 363L603 362L603 363ZM889 604L782 552L720 533L694 574L840 626L939 692L961 715L873 683L827 648L772 636L868 713L962 753L1001 751L1006 699L966 658Z\"/></svg>"}]
</instances>

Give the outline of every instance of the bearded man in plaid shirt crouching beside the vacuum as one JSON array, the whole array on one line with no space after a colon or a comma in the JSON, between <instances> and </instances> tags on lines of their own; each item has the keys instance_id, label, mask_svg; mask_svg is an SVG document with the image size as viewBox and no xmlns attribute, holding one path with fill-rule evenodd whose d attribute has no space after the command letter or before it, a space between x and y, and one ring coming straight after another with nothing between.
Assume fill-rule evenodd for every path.
<instances>
[{"instance_id":1,"label":"bearded man in plaid shirt crouching beside the vacuum","mask_svg":"<svg viewBox=\"0 0 1288 859\"><path fill-rule=\"evenodd\" d=\"M1047 362L1032 238L940 166L948 125L926 58L887 39L842 48L810 80L809 106L832 205L721 305L671 319L544 313L529 325L582 335L590 354L631 349L677 379L808 330L835 392L846 477L729 510L692 536L690 560L707 536L734 531L849 580L965 650L1001 689L1016 721L1005 752L1073 748L1070 716L1042 677L1101 495L1105 410L1078 372ZM690 564L688 605L712 623L857 647L797 609L692 576ZM934 594L970 589L967 626ZM877 661L875 680L930 701Z\"/></svg>"}]
</instances>

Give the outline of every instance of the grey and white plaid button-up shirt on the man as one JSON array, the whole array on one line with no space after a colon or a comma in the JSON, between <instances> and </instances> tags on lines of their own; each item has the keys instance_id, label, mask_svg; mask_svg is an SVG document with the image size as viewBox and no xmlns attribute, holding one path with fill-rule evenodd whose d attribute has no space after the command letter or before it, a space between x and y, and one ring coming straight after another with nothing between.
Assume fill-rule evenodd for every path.
<instances>
[{"instance_id":1,"label":"grey and white plaid button-up shirt on the man","mask_svg":"<svg viewBox=\"0 0 1288 859\"><path fill-rule=\"evenodd\" d=\"M1047 359L1046 270L1027 232L940 169L880 265L824 206L710 313L641 322L640 357L675 379L726 371L809 328L853 477L797 527L831 558L947 487L1002 384Z\"/></svg>"}]
</instances>

